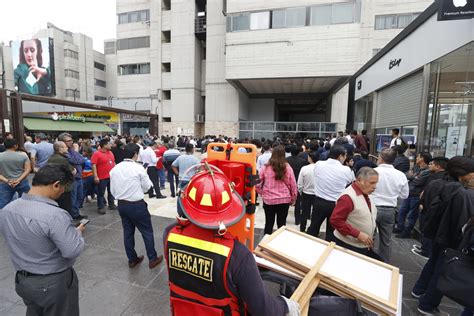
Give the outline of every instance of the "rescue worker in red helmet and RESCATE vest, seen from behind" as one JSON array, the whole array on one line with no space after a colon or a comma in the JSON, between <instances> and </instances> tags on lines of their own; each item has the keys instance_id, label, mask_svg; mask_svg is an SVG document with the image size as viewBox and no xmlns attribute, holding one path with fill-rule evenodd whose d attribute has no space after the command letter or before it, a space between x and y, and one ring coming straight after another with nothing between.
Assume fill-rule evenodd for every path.
<instances>
[{"instance_id":1,"label":"rescue worker in red helmet and RESCATE vest, seen from behind","mask_svg":"<svg viewBox=\"0 0 474 316\"><path fill-rule=\"evenodd\" d=\"M227 232L245 214L242 198L222 171L200 166L179 197L187 219L163 234L172 315L300 315L269 295L252 253Z\"/></svg>"}]
</instances>

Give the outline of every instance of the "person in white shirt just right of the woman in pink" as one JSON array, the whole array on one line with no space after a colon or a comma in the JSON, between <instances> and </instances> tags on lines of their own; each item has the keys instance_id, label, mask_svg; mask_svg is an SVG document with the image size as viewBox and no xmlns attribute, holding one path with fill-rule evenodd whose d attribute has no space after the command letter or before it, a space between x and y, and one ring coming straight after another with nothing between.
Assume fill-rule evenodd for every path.
<instances>
[{"instance_id":1,"label":"person in white shirt just right of the woman in pink","mask_svg":"<svg viewBox=\"0 0 474 316\"><path fill-rule=\"evenodd\" d=\"M306 222L311 218L311 211L314 209L314 167L318 161L317 151L308 153L309 165L301 168L298 176L298 192L301 195L301 218L300 231L306 232Z\"/></svg>"}]
</instances>

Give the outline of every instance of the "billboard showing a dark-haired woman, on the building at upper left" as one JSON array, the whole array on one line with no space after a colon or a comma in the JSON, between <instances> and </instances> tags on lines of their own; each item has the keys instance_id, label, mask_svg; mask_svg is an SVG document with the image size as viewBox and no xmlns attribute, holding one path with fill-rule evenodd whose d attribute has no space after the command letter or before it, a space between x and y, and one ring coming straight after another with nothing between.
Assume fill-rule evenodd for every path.
<instances>
[{"instance_id":1,"label":"billboard showing a dark-haired woman, on the building at upper left","mask_svg":"<svg viewBox=\"0 0 474 316\"><path fill-rule=\"evenodd\" d=\"M12 42L11 47L15 88L21 93L55 95L53 39Z\"/></svg>"}]
</instances>

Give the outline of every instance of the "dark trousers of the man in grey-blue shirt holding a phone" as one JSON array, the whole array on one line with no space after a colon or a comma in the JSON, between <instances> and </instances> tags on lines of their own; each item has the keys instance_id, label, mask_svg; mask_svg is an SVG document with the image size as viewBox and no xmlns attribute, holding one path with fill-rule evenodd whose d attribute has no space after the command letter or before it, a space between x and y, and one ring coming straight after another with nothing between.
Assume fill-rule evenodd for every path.
<instances>
[{"instance_id":1,"label":"dark trousers of the man in grey-blue shirt holding a phone","mask_svg":"<svg viewBox=\"0 0 474 316\"><path fill-rule=\"evenodd\" d=\"M79 316L79 281L73 268L41 276L17 273L15 290L27 316Z\"/></svg>"}]
</instances>

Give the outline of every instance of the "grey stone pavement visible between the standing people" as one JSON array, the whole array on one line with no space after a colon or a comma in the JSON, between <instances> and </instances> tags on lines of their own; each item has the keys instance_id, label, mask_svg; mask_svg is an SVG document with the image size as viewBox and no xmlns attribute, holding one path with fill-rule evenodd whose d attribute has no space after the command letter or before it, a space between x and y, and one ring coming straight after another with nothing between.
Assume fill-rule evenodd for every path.
<instances>
[{"instance_id":1,"label":"grey stone pavement visible between the standing people","mask_svg":"<svg viewBox=\"0 0 474 316\"><path fill-rule=\"evenodd\" d=\"M168 183L167 183L168 185ZM170 196L169 190L163 194ZM162 233L174 221L176 199L148 199L155 233L155 247L163 253ZM86 247L78 258L75 269L79 277L79 300L81 315L170 315L167 269L161 263L153 270L148 268L145 247L140 233L135 234L136 250L145 255L142 264L128 268L123 246L122 224L117 211L97 214L95 203L85 203L83 214L91 222L84 232ZM294 226L294 215L290 210L288 226ZM256 213L256 240L262 238L265 220L263 209ZM324 230L324 229L323 229ZM415 240L393 240L391 264L398 266L404 277L403 315L419 315L416 299L410 291L416 282L426 260L410 251ZM25 315L23 301L15 293L15 271L10 262L10 254L0 234L0 315ZM267 284L268 285L268 284ZM274 291L276 287L269 285ZM461 307L444 298L440 306L442 315L459 315Z\"/></svg>"}]
</instances>

